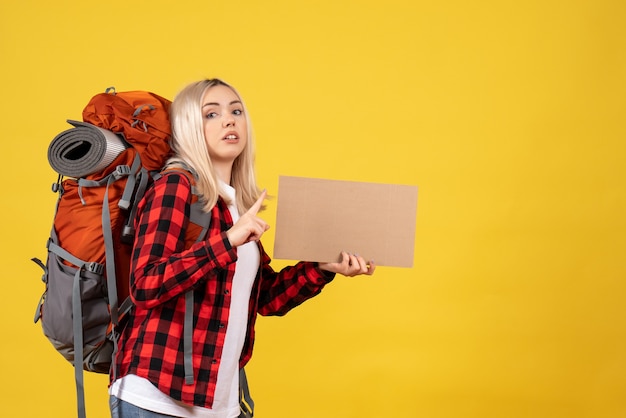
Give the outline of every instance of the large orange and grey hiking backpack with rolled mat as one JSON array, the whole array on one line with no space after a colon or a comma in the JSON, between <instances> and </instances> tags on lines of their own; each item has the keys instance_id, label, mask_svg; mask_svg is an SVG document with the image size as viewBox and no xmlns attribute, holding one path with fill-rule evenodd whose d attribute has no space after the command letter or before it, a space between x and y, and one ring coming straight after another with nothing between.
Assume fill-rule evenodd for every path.
<instances>
[{"instance_id":1,"label":"large orange and grey hiking backpack with rolled mat","mask_svg":"<svg viewBox=\"0 0 626 418\"><path fill-rule=\"evenodd\" d=\"M75 366L80 417L83 369L109 373L118 328L132 307L133 222L152 175L170 156L170 104L154 93L109 88L48 148L58 199L46 263L33 259L45 283L35 322Z\"/></svg>"}]
</instances>

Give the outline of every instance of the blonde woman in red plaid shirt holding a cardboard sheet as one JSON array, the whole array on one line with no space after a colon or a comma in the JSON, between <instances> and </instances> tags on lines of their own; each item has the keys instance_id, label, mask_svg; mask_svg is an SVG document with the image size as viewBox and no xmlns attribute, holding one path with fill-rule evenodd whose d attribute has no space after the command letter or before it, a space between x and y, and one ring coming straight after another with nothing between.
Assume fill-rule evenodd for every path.
<instances>
[{"instance_id":1,"label":"blonde woman in red plaid shirt holding a cardboard sheet","mask_svg":"<svg viewBox=\"0 0 626 418\"><path fill-rule=\"evenodd\" d=\"M190 84L170 118L173 169L139 206L136 307L119 341L111 411L120 418L238 417L239 370L252 355L256 315L284 315L335 273L371 275L375 266L343 253L341 262L275 272L259 241L269 228L257 217L266 193L256 185L250 121L238 93L218 79ZM190 237L195 199L210 217L199 242ZM193 319L189 347L185 312Z\"/></svg>"}]
</instances>

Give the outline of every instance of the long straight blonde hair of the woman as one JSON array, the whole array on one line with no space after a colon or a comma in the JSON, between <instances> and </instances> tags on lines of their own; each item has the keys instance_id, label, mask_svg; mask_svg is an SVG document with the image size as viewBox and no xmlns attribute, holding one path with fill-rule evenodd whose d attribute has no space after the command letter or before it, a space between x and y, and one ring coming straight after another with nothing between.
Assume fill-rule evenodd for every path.
<instances>
[{"instance_id":1,"label":"long straight blonde hair of the woman","mask_svg":"<svg viewBox=\"0 0 626 418\"><path fill-rule=\"evenodd\" d=\"M256 202L260 191L256 184L254 173L254 140L252 125L248 110L241 96L231 85L213 78L200 80L187 85L174 98L170 107L170 121L172 124L171 147L174 155L166 165L173 167L191 168L196 176L196 190L204 203L203 209L209 212L222 196L218 177L213 168L204 137L204 120L202 115L202 98L211 87L226 86L241 100L243 111L248 125L248 141L241 154L233 162L231 186L237 191L236 206L243 214Z\"/></svg>"}]
</instances>

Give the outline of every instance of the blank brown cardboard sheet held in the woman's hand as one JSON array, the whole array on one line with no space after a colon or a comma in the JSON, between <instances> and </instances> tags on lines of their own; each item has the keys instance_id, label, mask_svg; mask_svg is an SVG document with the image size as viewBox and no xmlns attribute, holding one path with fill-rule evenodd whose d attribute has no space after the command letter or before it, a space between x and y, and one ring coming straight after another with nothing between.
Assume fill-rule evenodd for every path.
<instances>
[{"instance_id":1,"label":"blank brown cardboard sheet held in the woman's hand","mask_svg":"<svg viewBox=\"0 0 626 418\"><path fill-rule=\"evenodd\" d=\"M281 176L274 258L412 267L417 187Z\"/></svg>"}]
</instances>

